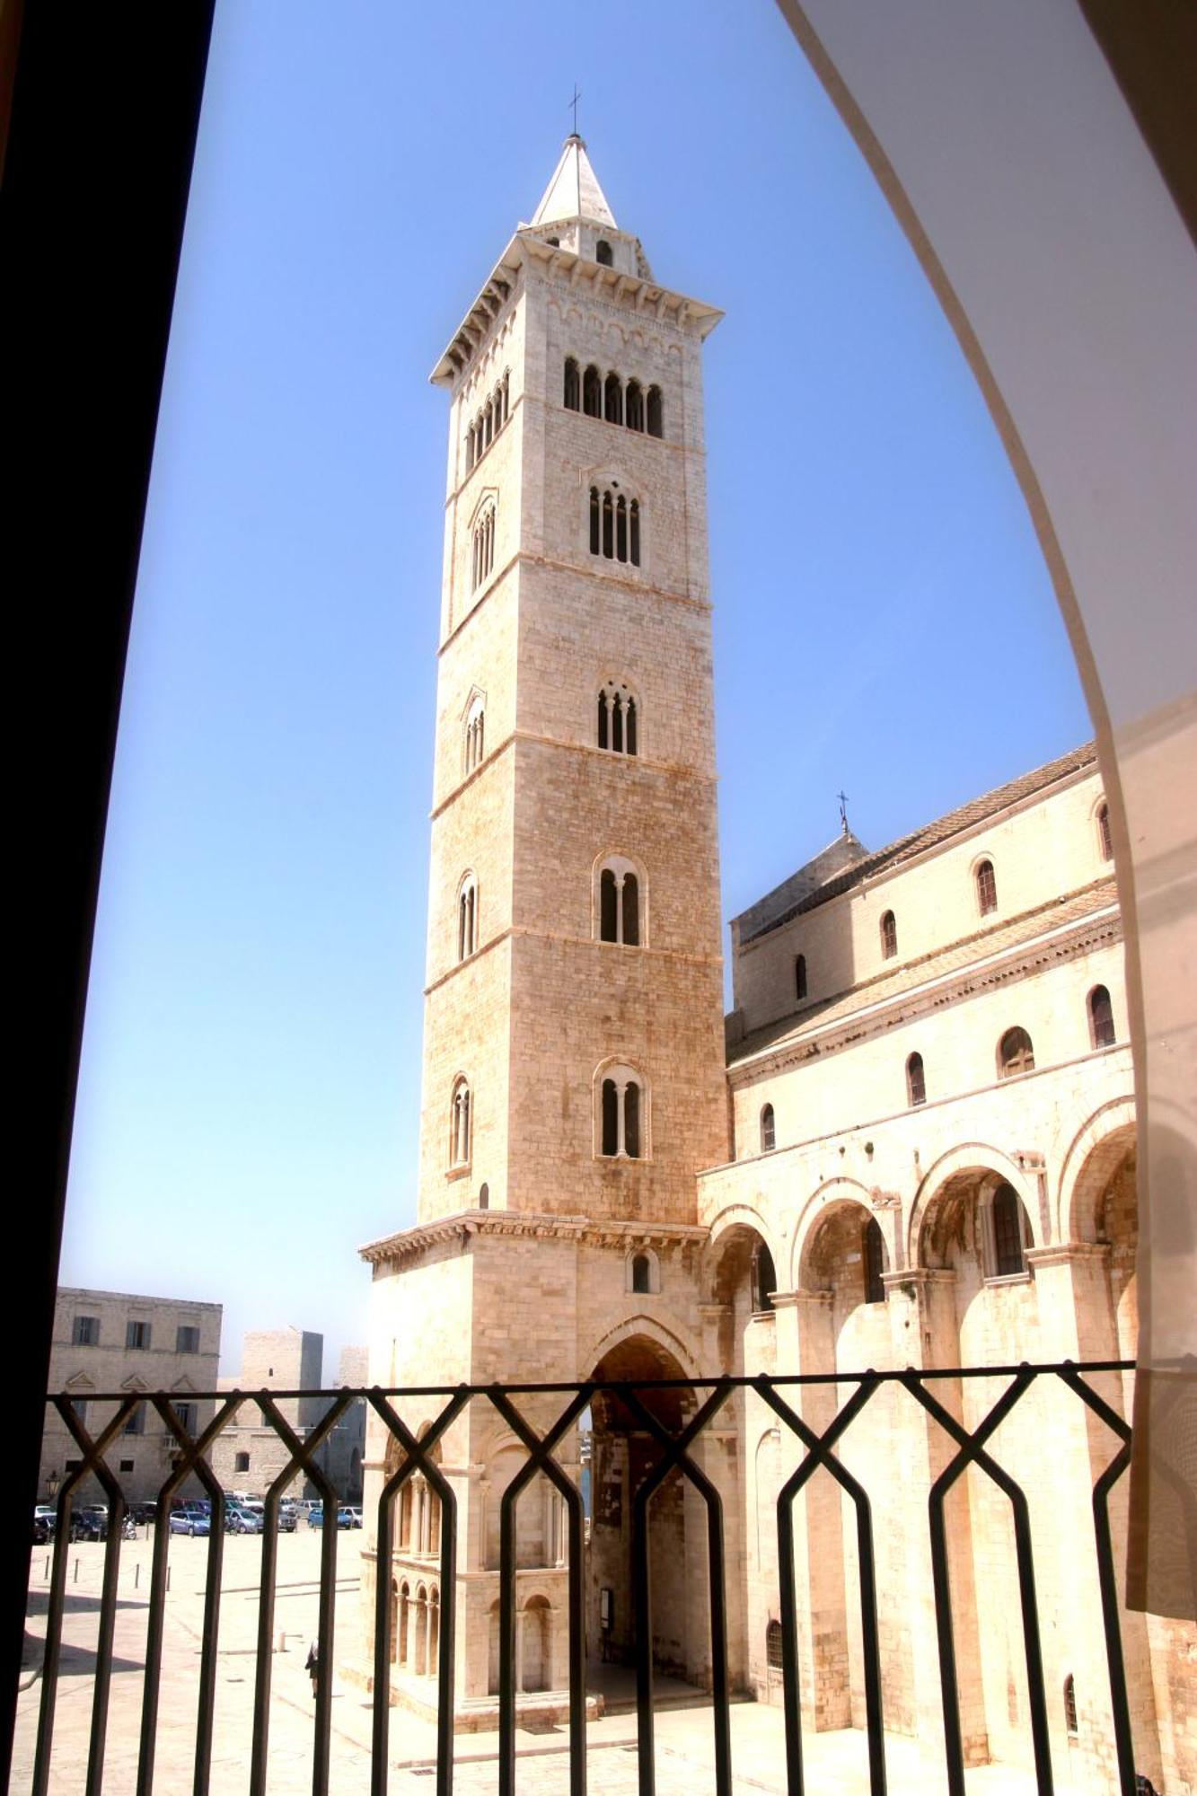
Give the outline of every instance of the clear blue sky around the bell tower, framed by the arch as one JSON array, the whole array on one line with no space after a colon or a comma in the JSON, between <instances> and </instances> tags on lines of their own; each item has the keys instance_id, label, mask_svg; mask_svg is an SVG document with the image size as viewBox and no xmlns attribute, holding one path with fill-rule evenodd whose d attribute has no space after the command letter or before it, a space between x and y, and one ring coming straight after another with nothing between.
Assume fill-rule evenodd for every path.
<instances>
[{"instance_id":1,"label":"clear blue sky around the bell tower, framed by the arch","mask_svg":"<svg viewBox=\"0 0 1197 1796\"><path fill-rule=\"evenodd\" d=\"M446 397L579 128L706 348L724 914L1084 740L1023 499L771 0L217 7L63 1282L367 1336L415 1214ZM332 1365L325 1361L325 1370Z\"/></svg>"}]
</instances>

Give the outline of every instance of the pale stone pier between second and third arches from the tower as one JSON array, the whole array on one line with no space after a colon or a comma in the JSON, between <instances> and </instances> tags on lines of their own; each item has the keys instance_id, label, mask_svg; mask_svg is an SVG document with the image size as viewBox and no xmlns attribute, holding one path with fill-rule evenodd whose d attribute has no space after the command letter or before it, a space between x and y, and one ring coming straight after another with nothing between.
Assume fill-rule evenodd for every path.
<instances>
[{"instance_id":1,"label":"pale stone pier between second and third arches from the tower","mask_svg":"<svg viewBox=\"0 0 1197 1796\"><path fill-rule=\"evenodd\" d=\"M882 1273L882 1284L890 1307L893 1365L917 1370L960 1365L956 1273L909 1268ZM933 1379L927 1390L956 1421L962 1421L960 1379ZM897 1439L900 1487L893 1492L890 1527L902 1539L906 1577L900 1591L879 1591L884 1638L899 1643L900 1661L899 1667L882 1663L882 1695L893 1719L902 1717L908 1726L913 1726L917 1739L929 1742L931 1756L942 1756L944 1703L927 1494L954 1457L956 1446L913 1397L906 1397L897 1413L902 1417ZM985 1728L972 1527L965 1480L967 1473L956 1482L947 1500L945 1532L963 1756L965 1764L978 1765L989 1760L989 1733ZM873 1527L879 1525L881 1518L875 1510ZM888 1658L893 1656L888 1654Z\"/></svg>"}]
</instances>

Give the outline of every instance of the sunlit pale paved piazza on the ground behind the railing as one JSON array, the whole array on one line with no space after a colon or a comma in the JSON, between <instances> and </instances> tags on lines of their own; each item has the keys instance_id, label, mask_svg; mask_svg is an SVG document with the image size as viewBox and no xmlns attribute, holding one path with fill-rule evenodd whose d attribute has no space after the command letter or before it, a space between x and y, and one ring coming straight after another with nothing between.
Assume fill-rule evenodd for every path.
<instances>
[{"instance_id":1,"label":"sunlit pale paved piazza on the ground behind the railing","mask_svg":"<svg viewBox=\"0 0 1197 1796\"><path fill-rule=\"evenodd\" d=\"M358 1548L361 1536L338 1536L338 1663L358 1651ZM50 1776L52 1792L77 1796L83 1789L88 1730L92 1719L93 1647L99 1622L99 1591L104 1548L79 1543L70 1548L66 1573L68 1606L63 1629L63 1660L56 1713L56 1744ZM16 1728L16 1755L11 1791L31 1787L32 1748L38 1726L45 1606L49 1591L49 1552L36 1548L29 1584L31 1651ZM142 1665L146 1645L146 1586L151 1545L140 1537L120 1552L119 1609L115 1624L115 1665L108 1722L104 1769L106 1796L133 1792L137 1783L137 1730L140 1721ZM162 1701L155 1787L162 1796L191 1789L194 1746L196 1676L200 1629L203 1618L203 1572L207 1543L178 1537L171 1543L171 1591L162 1663ZM219 1631L219 1681L212 1753L212 1791L235 1792L248 1785L250 1730L253 1715L253 1645L257 1629L257 1577L261 1543L230 1536L225 1541L225 1577ZM77 1572L75 1572L77 1568ZM270 1710L270 1791L271 1796L306 1796L311 1789L311 1686L304 1674L307 1643L316 1631L316 1577L320 1536L300 1528L279 1539L279 1591L275 1602L275 1668ZM782 1717L775 1708L737 1703L732 1710L733 1765L737 1792L785 1791ZM566 1796L568 1740L564 1728L550 1733L519 1733L519 1789ZM590 1783L602 1796L636 1791L634 1715L607 1715L588 1730ZM460 1735L455 1789L494 1791L498 1764L496 1737ZM430 1789L435 1762L431 1726L401 1708L392 1710L390 1789ZM710 1710L667 1708L656 1722L656 1765L660 1796L697 1796L714 1789ZM942 1773L924 1764L909 1740L888 1742L891 1791L935 1792L944 1787ZM838 1796L864 1796L868 1791L864 1737L829 1733L809 1739L807 1776L811 1789L834 1789ZM332 1699L332 1796L358 1796L370 1778L370 1701L365 1692L336 1676ZM1030 1796L1033 1782L1001 1767L969 1774L974 1796Z\"/></svg>"}]
</instances>

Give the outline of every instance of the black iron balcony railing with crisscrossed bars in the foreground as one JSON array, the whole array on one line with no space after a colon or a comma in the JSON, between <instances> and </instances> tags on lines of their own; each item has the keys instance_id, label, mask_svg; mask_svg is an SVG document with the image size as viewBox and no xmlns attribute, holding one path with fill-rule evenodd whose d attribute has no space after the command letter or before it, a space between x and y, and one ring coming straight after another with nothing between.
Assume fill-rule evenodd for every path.
<instances>
[{"instance_id":1,"label":"black iron balcony railing with crisscrossed bars in the foreground","mask_svg":"<svg viewBox=\"0 0 1197 1796\"><path fill-rule=\"evenodd\" d=\"M217 1677L217 1631L221 1606L221 1564L225 1541L225 1492L212 1471L210 1453L225 1428L244 1410L257 1410L264 1426L273 1430L286 1448L288 1462L275 1476L264 1494L264 1530L261 1546L261 1586L257 1595L257 1649L253 1667L253 1730L252 1755L248 1767L250 1796L264 1796L270 1760L270 1715L271 1715L271 1642L275 1627L277 1595L277 1557L279 1557L279 1507L284 1492L297 1476L306 1478L324 1501L324 1530L320 1545L320 1593L318 1593L318 1652L324 1667L334 1665L334 1598L336 1598L336 1546L338 1528L338 1492L332 1489L327 1471L320 1462L320 1448L327 1440L347 1408L365 1399L374 1415L374 1458L383 1462L377 1442L390 1444L386 1466L397 1464L383 1473L383 1487L367 1525L376 1528L376 1566L377 1597L374 1615L374 1697L372 1697L372 1796L385 1796L388 1780L390 1749L390 1677L392 1677L392 1554L395 1550L394 1510L403 1487L421 1475L440 1500L440 1633L437 1643L437 1758L435 1789L439 1796L449 1796L453 1787L453 1719L455 1719L455 1667L457 1667L457 1611L458 1589L455 1572L458 1568L458 1514L451 1480L439 1464L439 1448L451 1424L478 1403L489 1406L494 1415L510 1430L527 1453L527 1460L518 1475L507 1483L500 1503L500 1564L498 1564L498 1602L500 1602L500 1640L498 1640L498 1787L500 1796L514 1796L516 1791L516 1731L518 1731L518 1532L516 1505L521 1492L537 1475L548 1478L559 1492L566 1510L568 1552L564 1566L568 1577L568 1753L570 1753L570 1792L582 1796L586 1791L586 1512L584 1498L575 1475L566 1471L555 1457L559 1449L575 1440L575 1430L590 1406L611 1401L620 1404L620 1413L629 1417L640 1439L654 1444L656 1458L651 1460L642 1476L631 1503L631 1595L634 1606L634 1674L636 1674L636 1749L638 1749L638 1787L643 1796L652 1796L656 1787L654 1755L654 1663L652 1663L652 1579L651 1579L651 1530L649 1509L661 1485L676 1473L697 1492L706 1518L706 1570L710 1598L710 1706L714 1724L714 1787L717 1796L732 1792L732 1719L730 1719L730 1676L728 1676L728 1602L726 1602L726 1566L724 1566L724 1514L723 1496L708 1471L694 1458L696 1442L712 1426L715 1417L732 1403L744 1401L746 1394L760 1399L776 1417L778 1424L789 1431L794 1455L802 1455L796 1469L784 1478L776 1496L776 1546L778 1546L778 1607L780 1607L780 1670L782 1670L782 1708L785 1728L785 1785L796 1796L805 1789L803 1778L803 1722L802 1722L802 1670L798 1651L800 1589L794 1575L794 1498L809 1480L825 1469L845 1492L856 1510L856 1557L859 1579L859 1616L861 1616L861 1663L863 1695L868 1740L868 1774L872 1796L884 1796L886 1789L886 1751L884 1751L884 1704L882 1704L882 1649L877 1607L877 1555L873 1539L873 1510L868 1491L845 1466L839 1449L848 1444L847 1437L868 1430L870 1401L882 1387L902 1387L926 1415L942 1430L951 1446L953 1457L938 1476L929 1482L927 1492L927 1534L931 1579L935 1597L935 1638L938 1647L938 1681L942 1692L945 1773L951 1796L963 1796L965 1789L965 1740L962 1731L958 1667L956 1667L956 1627L953 1618L953 1588L949 1572L949 1536L951 1523L947 1498L960 1478L974 1469L992 1480L996 1489L1006 1498L1014 1523L1014 1555L1017 1568L1017 1600L1023 1622L1023 1651L1026 1668L1026 1694L1030 1712L1030 1735L1037 1787L1044 1796L1053 1789L1051 1749L1048 1730L1048 1701L1044 1692L1044 1665L1041 1647L1039 1595L1035 1580L1032 1518L1024 1489L1014 1480L1010 1471L994 1457L994 1437L1008 1421L1015 1406L1035 1387L1051 1385L1055 1390L1068 1390L1086 1412L1102 1422L1113 1437L1114 1448L1109 1464L1098 1475L1091 1494L1091 1527L1096 1550L1098 1591L1105 1665L1109 1674L1111 1719L1118 1762L1118 1785L1122 1796L1134 1796L1134 1749L1130 1733L1130 1712L1127 1701L1127 1677L1123 1668L1120 1615L1118 1615L1118 1579L1114 1548L1111 1537L1109 1498L1111 1489L1130 1460L1130 1428L1118 1408L1111 1404L1093 1385L1095 1378L1123 1374L1132 1370L1129 1361L1096 1363L1060 1363L1060 1365L1008 1365L1008 1367L969 1367L944 1370L893 1370L861 1372L856 1376L793 1376L793 1378L721 1378L706 1381L656 1379L643 1383L581 1383L581 1385L480 1385L480 1387L422 1387L408 1390L336 1390L336 1392L232 1392L214 1397L189 1394L189 1403L214 1403L216 1413L198 1437L182 1424L169 1394L129 1395L119 1392L110 1397L88 1394L92 1404L111 1403L113 1413L108 1422L92 1437L79 1421L68 1395L54 1395L49 1404L68 1430L77 1462L72 1464L66 1480L58 1494L58 1519L54 1530L52 1572L49 1579L49 1602L45 1615L45 1654L40 1685L40 1713L36 1724L36 1746L32 1751L32 1773L29 1789L34 1796L47 1796L50 1787L50 1758L56 1735L56 1699L59 1690L59 1654L63 1642L63 1615L66 1607L66 1572L70 1552L72 1503L81 1483L95 1476L108 1498L108 1534L102 1564L102 1589L99 1604L99 1629L95 1643L95 1679L92 1692L90 1740L86 1792L99 1796L104 1785L104 1753L108 1737L110 1692L113 1677L113 1625L117 1613L117 1577L122 1550L122 1521L126 1516L126 1498L120 1480L108 1466L108 1455L120 1442L126 1424L138 1404L149 1404L158 1413L165 1430L174 1440L171 1475L158 1492L158 1518L165 1523L173 1500L189 1478L198 1478L210 1500L210 1536L207 1546L207 1577L203 1593L203 1627L200 1642L200 1676L196 1692L196 1735L192 1762L192 1789L196 1796L207 1796L212 1776L212 1726ZM996 1403L974 1428L965 1428L958 1413L953 1413L949 1392L936 1395L935 1387L945 1381L999 1379L1005 1388ZM803 1390L811 1387L834 1387L838 1390L838 1412L830 1424L816 1431L800 1413ZM681 1417L679 1426L667 1426L658 1410L661 1395L672 1394L674 1408L679 1395L692 1404L688 1419ZM304 1435L297 1433L280 1404L289 1399L324 1399L327 1408L322 1419ZM823 1397L827 1401L827 1395ZM408 1419L404 1421L404 1410ZM528 1421L528 1412L536 1413L537 1426ZM552 1413L555 1410L555 1413ZM419 1421L415 1412L419 1412ZM550 1417L548 1421L545 1421ZM573 1458L577 1449L572 1448ZM1192 1500L1192 1498L1190 1498ZM1082 1528L1082 1516L1075 1516L1075 1525ZM1089 1523L1084 1523L1086 1527ZM169 1550L171 1530L158 1525L153 1534L153 1554L147 1586L147 1636L140 1704L140 1748L137 1769L138 1796L151 1796L155 1787L155 1748L158 1737L162 1652L164 1652L164 1616L165 1595L169 1588ZM320 1677L313 1712L313 1792L324 1796L329 1787L331 1769L331 1699L332 1679ZM16 1787L16 1783L13 1785Z\"/></svg>"}]
</instances>

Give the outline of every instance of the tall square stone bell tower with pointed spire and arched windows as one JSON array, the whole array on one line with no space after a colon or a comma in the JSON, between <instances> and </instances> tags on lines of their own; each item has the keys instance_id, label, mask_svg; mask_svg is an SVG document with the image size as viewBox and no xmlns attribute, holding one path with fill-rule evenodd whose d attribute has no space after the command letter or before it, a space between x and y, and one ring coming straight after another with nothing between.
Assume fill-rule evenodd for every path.
<instances>
[{"instance_id":1,"label":"tall square stone bell tower with pointed spire and arched windows","mask_svg":"<svg viewBox=\"0 0 1197 1796\"><path fill-rule=\"evenodd\" d=\"M728 1158L701 381L719 318L654 280L570 136L431 375L451 411L419 1219L363 1250L379 1385L579 1379L634 1340L645 1376L699 1370L694 1180ZM381 1433L367 1460L370 1505ZM519 1464L485 1403L444 1439L458 1703L494 1683ZM377 1575L419 1704L440 1593L428 1501L406 1509ZM521 1498L519 1541L521 1688L554 1690L548 1487Z\"/></svg>"}]
</instances>

